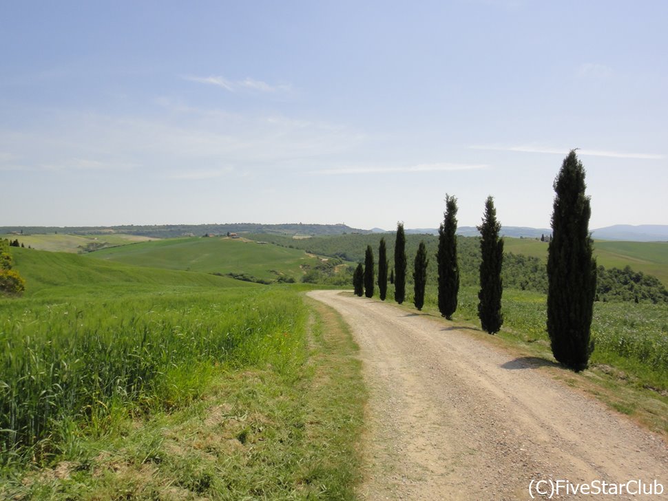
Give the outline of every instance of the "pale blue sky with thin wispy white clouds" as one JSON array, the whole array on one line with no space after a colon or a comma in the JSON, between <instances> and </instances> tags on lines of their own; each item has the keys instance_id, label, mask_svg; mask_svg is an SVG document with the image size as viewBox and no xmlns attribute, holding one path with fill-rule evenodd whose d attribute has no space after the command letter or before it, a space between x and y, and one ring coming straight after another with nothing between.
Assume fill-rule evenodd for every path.
<instances>
[{"instance_id":1,"label":"pale blue sky with thin wispy white clouds","mask_svg":"<svg viewBox=\"0 0 668 501\"><path fill-rule=\"evenodd\" d=\"M0 1L0 226L668 224L668 2Z\"/></svg>"}]
</instances>

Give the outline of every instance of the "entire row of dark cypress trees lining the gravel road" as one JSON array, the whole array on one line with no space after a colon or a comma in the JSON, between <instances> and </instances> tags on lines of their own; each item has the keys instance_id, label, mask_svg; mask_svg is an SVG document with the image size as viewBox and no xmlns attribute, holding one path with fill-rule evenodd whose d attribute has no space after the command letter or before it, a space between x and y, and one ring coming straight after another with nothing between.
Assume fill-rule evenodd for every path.
<instances>
[{"instance_id":1,"label":"entire row of dark cypress trees lining the gravel road","mask_svg":"<svg viewBox=\"0 0 668 501\"><path fill-rule=\"evenodd\" d=\"M552 235L547 256L547 333L554 358L575 371L587 367L594 349L591 339L593 305L596 295L598 268L593 257L589 233L591 208L585 195L585 169L575 150L563 160L554 180L555 191L552 211ZM438 308L441 315L452 319L457 310L459 292L459 263L457 260L457 198L446 195L446 211L439 226L438 251L435 255L438 270ZM482 223L477 227L481 262L479 265L478 317L483 330L499 332L503 326L501 299L503 296L503 238L501 223L497 220L494 198L485 202ZM395 286L395 301L406 299L406 235L404 224L397 223L394 267L390 281ZM424 241L420 242L413 264L413 301L415 308L424 306L424 290L428 257ZM378 286L384 301L387 290L388 259L384 237L379 246ZM359 263L353 275L355 294L373 297L373 249L366 247L364 265Z\"/></svg>"}]
</instances>

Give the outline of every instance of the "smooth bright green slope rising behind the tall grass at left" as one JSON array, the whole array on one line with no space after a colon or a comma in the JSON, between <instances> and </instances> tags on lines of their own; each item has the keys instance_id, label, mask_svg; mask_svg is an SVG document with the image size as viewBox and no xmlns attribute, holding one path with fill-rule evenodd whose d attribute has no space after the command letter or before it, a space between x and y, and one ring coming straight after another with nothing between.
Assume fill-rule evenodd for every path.
<instances>
[{"instance_id":1,"label":"smooth bright green slope rising behind the tall grass at left","mask_svg":"<svg viewBox=\"0 0 668 501\"><path fill-rule=\"evenodd\" d=\"M83 290L89 293L119 293L143 290L163 290L193 287L239 287L253 286L227 277L216 277L207 273L140 268L114 262L89 259L87 257L28 248L12 248L14 269L25 279L25 296L63 297L70 292L76 295Z\"/></svg>"}]
</instances>

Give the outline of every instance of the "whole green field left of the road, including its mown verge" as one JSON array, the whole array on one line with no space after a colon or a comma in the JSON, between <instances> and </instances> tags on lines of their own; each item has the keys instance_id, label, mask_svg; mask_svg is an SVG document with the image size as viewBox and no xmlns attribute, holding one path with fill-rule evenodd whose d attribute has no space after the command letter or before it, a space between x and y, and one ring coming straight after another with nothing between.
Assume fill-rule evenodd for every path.
<instances>
[{"instance_id":1,"label":"whole green field left of the road, including its mown verge","mask_svg":"<svg viewBox=\"0 0 668 501\"><path fill-rule=\"evenodd\" d=\"M0 498L353 498L356 347L302 286L12 253Z\"/></svg>"}]
</instances>

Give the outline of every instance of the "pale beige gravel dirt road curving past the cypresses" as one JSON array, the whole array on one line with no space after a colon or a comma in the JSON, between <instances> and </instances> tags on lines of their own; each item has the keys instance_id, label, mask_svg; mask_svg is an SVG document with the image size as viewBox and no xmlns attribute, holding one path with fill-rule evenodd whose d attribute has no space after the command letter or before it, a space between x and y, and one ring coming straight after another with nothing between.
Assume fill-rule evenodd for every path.
<instances>
[{"instance_id":1,"label":"pale beige gravel dirt road curving past the cypresses","mask_svg":"<svg viewBox=\"0 0 668 501\"><path fill-rule=\"evenodd\" d=\"M531 498L532 480L548 479L607 492L596 482L665 487L659 496L572 495L561 484L553 499L668 498L665 442L534 361L390 304L335 290L309 296L338 310L359 343L370 391L361 498L521 500Z\"/></svg>"}]
</instances>

